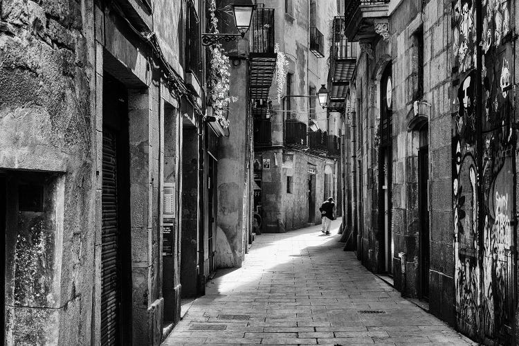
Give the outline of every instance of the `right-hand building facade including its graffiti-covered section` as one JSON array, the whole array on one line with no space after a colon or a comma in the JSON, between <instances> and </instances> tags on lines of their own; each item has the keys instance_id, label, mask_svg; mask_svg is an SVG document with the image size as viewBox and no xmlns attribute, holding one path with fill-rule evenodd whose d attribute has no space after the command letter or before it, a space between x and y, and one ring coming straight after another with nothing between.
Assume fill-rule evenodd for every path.
<instances>
[{"instance_id":1,"label":"right-hand building facade including its graffiti-covered section","mask_svg":"<svg viewBox=\"0 0 519 346\"><path fill-rule=\"evenodd\" d=\"M345 1L347 248L486 345L517 340L516 11Z\"/></svg>"}]
</instances>

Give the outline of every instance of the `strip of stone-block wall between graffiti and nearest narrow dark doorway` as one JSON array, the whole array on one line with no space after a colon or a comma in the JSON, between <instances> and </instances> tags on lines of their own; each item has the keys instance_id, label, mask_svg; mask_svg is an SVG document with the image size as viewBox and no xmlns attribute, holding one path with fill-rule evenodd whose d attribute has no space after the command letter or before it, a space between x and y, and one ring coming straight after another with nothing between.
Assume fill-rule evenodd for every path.
<instances>
[{"instance_id":1,"label":"strip of stone-block wall between graffiti and nearest narrow dark doorway","mask_svg":"<svg viewBox=\"0 0 519 346\"><path fill-rule=\"evenodd\" d=\"M430 312L454 322L453 210L450 130L450 1L431 0L424 21L424 89L430 100ZM443 39L440 39L443 37Z\"/></svg>"}]
</instances>

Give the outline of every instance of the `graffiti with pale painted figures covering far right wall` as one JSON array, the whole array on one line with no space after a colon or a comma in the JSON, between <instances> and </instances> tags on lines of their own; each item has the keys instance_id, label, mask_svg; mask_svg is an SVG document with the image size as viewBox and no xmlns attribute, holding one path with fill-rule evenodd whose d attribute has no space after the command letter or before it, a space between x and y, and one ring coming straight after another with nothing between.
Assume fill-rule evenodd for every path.
<instances>
[{"instance_id":1,"label":"graffiti with pale painted figures covering far right wall","mask_svg":"<svg viewBox=\"0 0 519 346\"><path fill-rule=\"evenodd\" d=\"M500 342L514 313L511 1L482 0L480 23L476 5L452 8L456 320L466 334Z\"/></svg>"}]
</instances>

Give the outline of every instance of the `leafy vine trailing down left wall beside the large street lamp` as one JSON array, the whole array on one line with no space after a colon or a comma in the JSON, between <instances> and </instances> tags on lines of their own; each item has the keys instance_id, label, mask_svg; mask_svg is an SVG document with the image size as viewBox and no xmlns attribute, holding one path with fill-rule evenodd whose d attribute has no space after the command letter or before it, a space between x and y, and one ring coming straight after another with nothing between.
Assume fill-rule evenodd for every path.
<instances>
[{"instance_id":1,"label":"leafy vine trailing down left wall beside the large street lamp","mask_svg":"<svg viewBox=\"0 0 519 346\"><path fill-rule=\"evenodd\" d=\"M210 28L212 29L212 33L217 34L219 30L218 19L215 15L216 0L210 0L208 6ZM229 104L238 100L236 97L229 95L230 61L229 57L225 55L224 48L222 48L221 44L214 44L209 49L211 52L209 86L212 109L214 109L215 118L217 118L220 125L222 127L228 127L229 120L225 114Z\"/></svg>"}]
</instances>

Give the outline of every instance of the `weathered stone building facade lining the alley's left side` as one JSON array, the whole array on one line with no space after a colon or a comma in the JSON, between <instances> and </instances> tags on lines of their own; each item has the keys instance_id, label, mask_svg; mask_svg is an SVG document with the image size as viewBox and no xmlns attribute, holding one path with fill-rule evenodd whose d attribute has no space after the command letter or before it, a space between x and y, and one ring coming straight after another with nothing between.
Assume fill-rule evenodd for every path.
<instances>
[{"instance_id":1,"label":"weathered stone building facade lining the alley's left side","mask_svg":"<svg viewBox=\"0 0 519 346\"><path fill-rule=\"evenodd\" d=\"M182 300L243 260L218 250L218 172L236 151L229 131L251 125L208 116L208 1L0 8L0 343L159 345ZM248 242L241 203L244 221L222 233L244 239L231 253Z\"/></svg>"}]
</instances>

